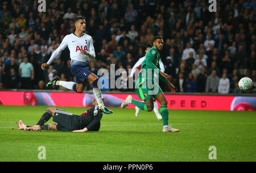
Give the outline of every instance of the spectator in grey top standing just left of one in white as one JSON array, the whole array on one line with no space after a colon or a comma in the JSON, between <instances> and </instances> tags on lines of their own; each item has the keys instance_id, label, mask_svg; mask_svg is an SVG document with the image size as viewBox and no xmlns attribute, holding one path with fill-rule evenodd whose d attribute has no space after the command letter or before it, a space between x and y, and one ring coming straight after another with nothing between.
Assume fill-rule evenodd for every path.
<instances>
[{"instance_id":1,"label":"spectator in grey top standing just left of one in white","mask_svg":"<svg viewBox=\"0 0 256 173\"><path fill-rule=\"evenodd\" d=\"M217 77L216 70L212 70L212 73L207 77L205 92L217 92L219 81L220 78Z\"/></svg>"}]
</instances>

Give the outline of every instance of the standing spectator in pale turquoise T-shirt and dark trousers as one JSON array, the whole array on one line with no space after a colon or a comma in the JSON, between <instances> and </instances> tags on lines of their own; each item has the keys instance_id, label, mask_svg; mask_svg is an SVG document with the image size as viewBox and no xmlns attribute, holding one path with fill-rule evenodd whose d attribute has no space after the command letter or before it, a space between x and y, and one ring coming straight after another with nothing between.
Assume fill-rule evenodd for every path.
<instances>
[{"instance_id":1,"label":"standing spectator in pale turquoise T-shirt and dark trousers","mask_svg":"<svg viewBox=\"0 0 256 173\"><path fill-rule=\"evenodd\" d=\"M19 65L19 75L21 77L21 88L27 90L32 89L34 67L28 62L28 57L24 57L23 62Z\"/></svg>"}]
</instances>

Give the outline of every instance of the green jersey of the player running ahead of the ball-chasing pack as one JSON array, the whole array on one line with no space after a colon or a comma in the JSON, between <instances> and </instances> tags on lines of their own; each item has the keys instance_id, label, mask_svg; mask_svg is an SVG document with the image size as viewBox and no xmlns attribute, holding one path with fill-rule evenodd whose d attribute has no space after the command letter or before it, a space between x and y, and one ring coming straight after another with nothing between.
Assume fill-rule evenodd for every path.
<instances>
[{"instance_id":1,"label":"green jersey of the player running ahead of the ball-chasing pack","mask_svg":"<svg viewBox=\"0 0 256 173\"><path fill-rule=\"evenodd\" d=\"M164 78L162 75L160 75L160 65L159 65L159 61L160 61L160 53L158 52L158 49L156 49L155 47L152 47L148 50L145 60L142 62L141 68L146 70L146 73L148 73L148 69L152 70L152 73L150 76L147 75L147 79L151 78L152 82L155 81L155 77L154 77L154 73L158 73L159 78L166 83L167 80L166 78ZM156 69L156 70L155 70Z\"/></svg>"}]
</instances>

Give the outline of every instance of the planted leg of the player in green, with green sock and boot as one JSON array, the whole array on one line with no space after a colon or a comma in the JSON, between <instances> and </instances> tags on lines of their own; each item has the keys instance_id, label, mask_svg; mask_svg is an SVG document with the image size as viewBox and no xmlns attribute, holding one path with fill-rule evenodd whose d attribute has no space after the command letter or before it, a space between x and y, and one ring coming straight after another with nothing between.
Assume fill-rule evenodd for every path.
<instances>
[{"instance_id":1,"label":"planted leg of the player in green, with green sock and boot","mask_svg":"<svg viewBox=\"0 0 256 173\"><path fill-rule=\"evenodd\" d=\"M156 95L155 99L161 104L160 113L163 118L163 132L179 132L179 129L171 128L171 126L168 125L169 111L167 108L167 99L163 91Z\"/></svg>"}]
</instances>

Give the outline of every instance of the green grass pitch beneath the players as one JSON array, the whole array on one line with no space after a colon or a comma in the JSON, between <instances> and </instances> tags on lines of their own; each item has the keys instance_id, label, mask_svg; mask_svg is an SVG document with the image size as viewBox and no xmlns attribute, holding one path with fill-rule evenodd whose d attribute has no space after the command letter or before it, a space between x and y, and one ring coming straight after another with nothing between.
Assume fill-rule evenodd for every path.
<instances>
[{"instance_id":1,"label":"green grass pitch beneath the players","mask_svg":"<svg viewBox=\"0 0 256 173\"><path fill-rule=\"evenodd\" d=\"M256 161L256 112L169 110L178 133L162 132L154 112L111 108L99 132L24 132L17 124L34 125L45 106L0 106L0 161ZM85 108L60 107L81 114ZM48 121L52 123L52 119ZM12 129L11 127L14 127Z\"/></svg>"}]
</instances>

